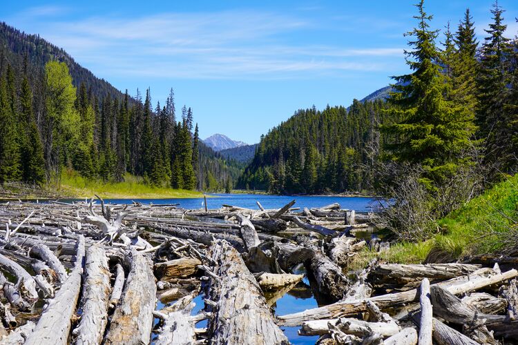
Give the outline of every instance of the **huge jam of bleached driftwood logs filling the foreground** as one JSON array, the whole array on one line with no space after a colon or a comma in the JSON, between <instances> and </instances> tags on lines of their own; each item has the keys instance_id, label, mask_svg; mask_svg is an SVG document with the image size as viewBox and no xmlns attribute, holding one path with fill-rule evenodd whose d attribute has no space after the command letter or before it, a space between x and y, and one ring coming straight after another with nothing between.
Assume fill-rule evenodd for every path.
<instances>
[{"instance_id":1,"label":"huge jam of bleached driftwood logs filling the foreground","mask_svg":"<svg viewBox=\"0 0 518 345\"><path fill-rule=\"evenodd\" d=\"M350 272L372 246L353 235L372 215L294 204L0 204L0 344L289 344L284 326L319 344L517 339L516 270L374 261ZM305 288L320 307L275 315Z\"/></svg>"}]
</instances>

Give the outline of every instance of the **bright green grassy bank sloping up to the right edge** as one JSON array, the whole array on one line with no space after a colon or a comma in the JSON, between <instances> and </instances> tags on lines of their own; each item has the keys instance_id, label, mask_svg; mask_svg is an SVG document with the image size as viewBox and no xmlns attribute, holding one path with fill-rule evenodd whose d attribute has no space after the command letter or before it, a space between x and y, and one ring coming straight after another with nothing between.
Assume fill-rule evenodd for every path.
<instances>
[{"instance_id":1,"label":"bright green grassy bank sloping up to the right edge","mask_svg":"<svg viewBox=\"0 0 518 345\"><path fill-rule=\"evenodd\" d=\"M468 255L502 253L518 242L518 174L506 177L486 193L437 221L439 233L421 243L394 244L383 253L363 250L353 267L380 257L387 262L447 262Z\"/></svg>"}]
</instances>

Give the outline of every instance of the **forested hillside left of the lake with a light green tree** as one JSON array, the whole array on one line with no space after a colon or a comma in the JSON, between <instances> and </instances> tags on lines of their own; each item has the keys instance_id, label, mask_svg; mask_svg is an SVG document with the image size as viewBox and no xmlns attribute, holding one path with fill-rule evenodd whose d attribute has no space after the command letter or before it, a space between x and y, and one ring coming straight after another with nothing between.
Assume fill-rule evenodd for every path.
<instances>
[{"instance_id":1,"label":"forested hillside left of the lake with a light green tree","mask_svg":"<svg viewBox=\"0 0 518 345\"><path fill-rule=\"evenodd\" d=\"M193 111L171 89L153 105L79 66L64 50L0 25L0 183L59 182L64 170L153 186L222 189L238 171L204 150Z\"/></svg>"}]
</instances>

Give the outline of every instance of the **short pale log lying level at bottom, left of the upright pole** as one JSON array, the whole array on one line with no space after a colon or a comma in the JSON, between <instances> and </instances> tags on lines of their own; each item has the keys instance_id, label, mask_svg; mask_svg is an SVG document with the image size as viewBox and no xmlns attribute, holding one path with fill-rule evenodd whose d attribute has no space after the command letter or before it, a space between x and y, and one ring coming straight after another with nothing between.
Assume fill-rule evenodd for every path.
<instances>
[{"instance_id":1,"label":"short pale log lying level at bottom, left of the upright pole","mask_svg":"<svg viewBox=\"0 0 518 345\"><path fill-rule=\"evenodd\" d=\"M302 324L302 328L298 331L299 335L324 335L329 333L329 324L336 326L338 324L338 320L342 324L346 322L349 323L349 328L347 331L344 331L346 334L352 335L364 335L365 328L370 328L370 330L374 333L379 333L384 337L390 337L391 335L395 335L399 333L399 326L396 323L387 323L387 322L367 322L361 319L340 317L340 319L321 319L314 321L305 321Z\"/></svg>"}]
</instances>

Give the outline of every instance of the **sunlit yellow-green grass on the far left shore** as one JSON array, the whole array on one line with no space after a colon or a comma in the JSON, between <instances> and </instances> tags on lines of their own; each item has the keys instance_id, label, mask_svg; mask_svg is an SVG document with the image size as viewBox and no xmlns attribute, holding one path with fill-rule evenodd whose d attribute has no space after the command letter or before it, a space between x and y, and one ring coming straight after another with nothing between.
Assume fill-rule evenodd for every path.
<instances>
[{"instance_id":1,"label":"sunlit yellow-green grass on the far left shore","mask_svg":"<svg viewBox=\"0 0 518 345\"><path fill-rule=\"evenodd\" d=\"M61 175L60 192L70 197L93 197L106 199L169 199L203 197L194 190L153 187L144 184L142 178L127 174L124 182L105 184L99 180L86 179L77 172L65 171Z\"/></svg>"}]
</instances>

